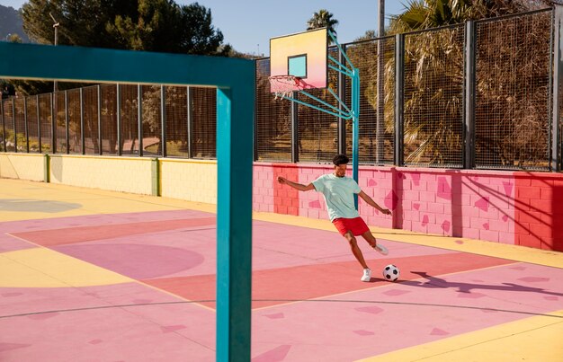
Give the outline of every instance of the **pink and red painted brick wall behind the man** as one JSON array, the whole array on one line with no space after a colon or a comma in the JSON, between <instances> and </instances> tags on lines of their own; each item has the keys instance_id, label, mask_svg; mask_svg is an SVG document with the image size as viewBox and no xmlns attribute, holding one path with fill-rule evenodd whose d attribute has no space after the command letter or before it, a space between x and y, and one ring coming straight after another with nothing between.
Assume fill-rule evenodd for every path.
<instances>
[{"instance_id":1,"label":"pink and red painted brick wall behind the man","mask_svg":"<svg viewBox=\"0 0 563 362\"><path fill-rule=\"evenodd\" d=\"M321 194L273 181L283 174L308 184L332 171L331 165L255 163L255 210L273 212L282 205L290 211L277 212L327 218ZM358 183L393 211L382 216L361 199L368 225L563 251L563 229L556 228L563 225L562 174L365 166Z\"/></svg>"}]
</instances>

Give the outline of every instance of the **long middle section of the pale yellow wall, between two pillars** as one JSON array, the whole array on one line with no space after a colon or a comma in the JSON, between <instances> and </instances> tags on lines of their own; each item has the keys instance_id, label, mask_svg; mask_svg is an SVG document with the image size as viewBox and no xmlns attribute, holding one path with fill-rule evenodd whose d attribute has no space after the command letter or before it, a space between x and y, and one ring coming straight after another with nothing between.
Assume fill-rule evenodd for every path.
<instances>
[{"instance_id":1,"label":"long middle section of the pale yellow wall, between two pillars","mask_svg":"<svg viewBox=\"0 0 563 362\"><path fill-rule=\"evenodd\" d=\"M53 183L150 195L151 158L50 155Z\"/></svg>"}]
</instances>

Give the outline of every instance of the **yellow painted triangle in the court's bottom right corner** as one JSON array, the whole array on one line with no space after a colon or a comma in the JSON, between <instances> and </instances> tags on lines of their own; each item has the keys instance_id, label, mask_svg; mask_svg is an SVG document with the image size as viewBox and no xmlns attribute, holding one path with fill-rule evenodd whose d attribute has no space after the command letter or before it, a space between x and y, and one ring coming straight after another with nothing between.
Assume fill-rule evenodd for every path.
<instances>
[{"instance_id":1,"label":"yellow painted triangle in the court's bottom right corner","mask_svg":"<svg viewBox=\"0 0 563 362\"><path fill-rule=\"evenodd\" d=\"M563 361L563 310L399 349L362 362Z\"/></svg>"}]
</instances>

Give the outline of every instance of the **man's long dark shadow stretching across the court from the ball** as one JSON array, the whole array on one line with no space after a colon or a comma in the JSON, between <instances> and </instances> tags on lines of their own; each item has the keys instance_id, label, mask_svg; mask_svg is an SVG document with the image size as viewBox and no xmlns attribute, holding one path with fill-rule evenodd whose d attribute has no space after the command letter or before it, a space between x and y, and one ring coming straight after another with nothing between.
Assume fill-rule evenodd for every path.
<instances>
[{"instance_id":1,"label":"man's long dark shadow stretching across the court from the ball","mask_svg":"<svg viewBox=\"0 0 563 362\"><path fill-rule=\"evenodd\" d=\"M507 292L531 292L531 293L541 293L550 296L563 296L563 293L550 292L541 287L526 287L514 283L502 283L499 285L490 284L477 284L477 283L462 283L462 282L451 282L446 279L436 278L428 275L425 271L411 271L413 274L417 274L426 281L420 280L405 280L401 284L413 287L426 287L426 288L457 288L460 293L471 293L472 290L504 290ZM377 281L377 280L376 280Z\"/></svg>"}]
</instances>

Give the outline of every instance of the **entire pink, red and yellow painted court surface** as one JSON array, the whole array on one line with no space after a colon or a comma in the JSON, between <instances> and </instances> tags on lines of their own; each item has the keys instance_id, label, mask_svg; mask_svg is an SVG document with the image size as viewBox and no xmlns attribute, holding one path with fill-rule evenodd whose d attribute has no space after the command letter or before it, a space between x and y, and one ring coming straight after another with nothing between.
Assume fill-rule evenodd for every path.
<instances>
[{"instance_id":1,"label":"entire pink, red and yellow painted court surface","mask_svg":"<svg viewBox=\"0 0 563 362\"><path fill-rule=\"evenodd\" d=\"M214 212L0 180L0 360L215 360ZM562 253L372 230L255 214L253 361L563 360Z\"/></svg>"}]
</instances>

